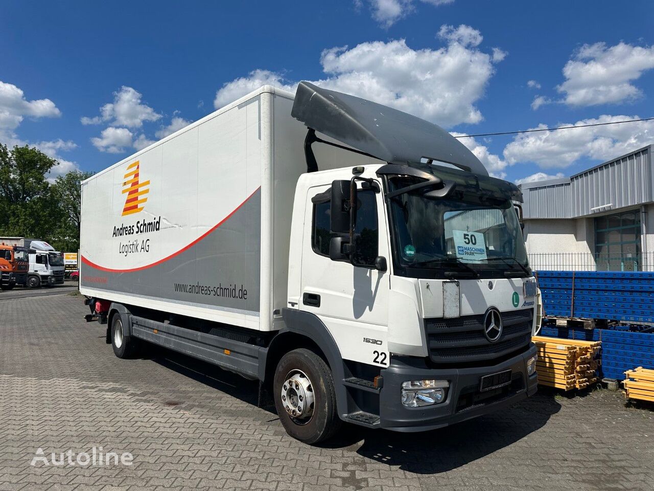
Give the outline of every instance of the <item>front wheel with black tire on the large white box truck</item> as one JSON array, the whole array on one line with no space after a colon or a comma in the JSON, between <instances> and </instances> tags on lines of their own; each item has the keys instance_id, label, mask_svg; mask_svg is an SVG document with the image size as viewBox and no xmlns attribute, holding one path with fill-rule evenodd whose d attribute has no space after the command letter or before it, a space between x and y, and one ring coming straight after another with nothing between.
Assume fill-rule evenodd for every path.
<instances>
[{"instance_id":1,"label":"front wheel with black tire on the large white box truck","mask_svg":"<svg viewBox=\"0 0 654 491\"><path fill-rule=\"evenodd\" d=\"M303 443L324 441L341 426L332 372L311 350L293 350L279 360L273 397L286 433Z\"/></svg>"}]
</instances>

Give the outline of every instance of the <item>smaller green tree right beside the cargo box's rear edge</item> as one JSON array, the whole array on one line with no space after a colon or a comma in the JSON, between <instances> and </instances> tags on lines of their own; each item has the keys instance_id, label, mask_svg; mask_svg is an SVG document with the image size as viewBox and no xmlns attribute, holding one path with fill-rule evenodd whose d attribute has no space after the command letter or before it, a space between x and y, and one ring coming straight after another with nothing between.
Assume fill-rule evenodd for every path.
<instances>
[{"instance_id":1,"label":"smaller green tree right beside the cargo box's rear edge","mask_svg":"<svg viewBox=\"0 0 654 491\"><path fill-rule=\"evenodd\" d=\"M63 213L61 227L54 247L59 251L77 252L80 245L80 183L93 175L92 172L72 170L65 175L59 175L52 185L52 191Z\"/></svg>"}]
</instances>

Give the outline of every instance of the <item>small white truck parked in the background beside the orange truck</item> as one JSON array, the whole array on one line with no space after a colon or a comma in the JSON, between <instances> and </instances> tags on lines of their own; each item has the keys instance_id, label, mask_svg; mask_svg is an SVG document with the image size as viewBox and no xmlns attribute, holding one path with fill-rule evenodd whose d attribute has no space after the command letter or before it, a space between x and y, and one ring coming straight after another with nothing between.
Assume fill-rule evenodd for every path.
<instances>
[{"instance_id":1,"label":"small white truck parked in the background beside the orange truck","mask_svg":"<svg viewBox=\"0 0 654 491\"><path fill-rule=\"evenodd\" d=\"M29 270L27 276L17 280L17 285L39 287L63 283L63 255L44 240L25 237L0 237L0 243L17 245L29 249Z\"/></svg>"}]
</instances>

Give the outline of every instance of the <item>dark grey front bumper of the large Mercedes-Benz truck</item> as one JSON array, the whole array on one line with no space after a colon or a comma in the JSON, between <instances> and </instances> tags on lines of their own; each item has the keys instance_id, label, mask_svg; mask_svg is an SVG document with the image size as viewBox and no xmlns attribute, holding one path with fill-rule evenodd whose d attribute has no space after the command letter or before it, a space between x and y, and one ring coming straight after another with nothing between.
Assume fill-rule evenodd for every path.
<instances>
[{"instance_id":1,"label":"dark grey front bumper of the large Mercedes-Benz truck","mask_svg":"<svg viewBox=\"0 0 654 491\"><path fill-rule=\"evenodd\" d=\"M476 418L513 405L536 393L536 374L527 375L526 361L536 354L536 345L497 365L475 368L430 369L419 358L392 358L381 371L384 386L379 395L381 427L394 431L426 431ZM511 385L480 392L482 376L511 370ZM402 382L449 380L445 402L424 407L405 407L400 401Z\"/></svg>"}]
</instances>

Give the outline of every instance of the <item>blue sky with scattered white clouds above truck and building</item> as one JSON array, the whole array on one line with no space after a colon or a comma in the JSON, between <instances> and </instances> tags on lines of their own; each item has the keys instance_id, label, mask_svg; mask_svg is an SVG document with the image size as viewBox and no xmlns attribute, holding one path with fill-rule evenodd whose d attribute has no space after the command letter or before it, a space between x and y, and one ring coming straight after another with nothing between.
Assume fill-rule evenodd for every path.
<instances>
[{"instance_id":1,"label":"blue sky with scattered white clouds above truck and building","mask_svg":"<svg viewBox=\"0 0 654 491\"><path fill-rule=\"evenodd\" d=\"M456 134L654 116L648 1L312 4L5 1L0 141L97 171L263 82L300 80ZM462 141L516 181L654 143L654 122Z\"/></svg>"}]
</instances>

